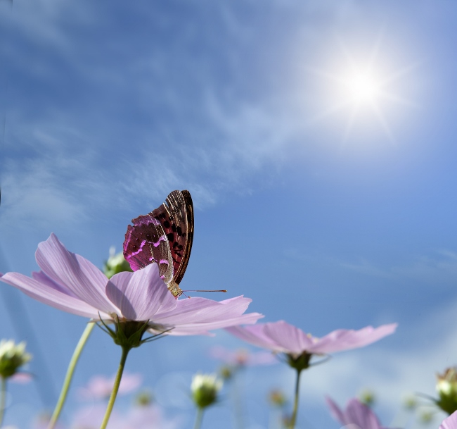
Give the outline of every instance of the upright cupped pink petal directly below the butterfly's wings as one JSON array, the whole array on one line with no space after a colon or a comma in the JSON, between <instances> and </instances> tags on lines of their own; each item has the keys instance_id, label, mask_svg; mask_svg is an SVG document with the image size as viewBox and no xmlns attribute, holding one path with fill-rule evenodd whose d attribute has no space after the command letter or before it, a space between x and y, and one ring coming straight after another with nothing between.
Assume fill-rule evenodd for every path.
<instances>
[{"instance_id":1,"label":"upright cupped pink petal directly below the butterfly's wings","mask_svg":"<svg viewBox=\"0 0 457 429\"><path fill-rule=\"evenodd\" d=\"M106 295L119 307L122 316L131 321L152 321L156 313L176 307L176 299L160 278L157 263L134 273L113 275L106 285Z\"/></svg>"}]
</instances>

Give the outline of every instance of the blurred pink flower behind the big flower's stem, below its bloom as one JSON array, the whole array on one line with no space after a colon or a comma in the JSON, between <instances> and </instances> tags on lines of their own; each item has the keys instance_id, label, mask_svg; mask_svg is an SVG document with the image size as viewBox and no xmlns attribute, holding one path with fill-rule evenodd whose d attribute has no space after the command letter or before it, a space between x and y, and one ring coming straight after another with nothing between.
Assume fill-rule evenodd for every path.
<instances>
[{"instance_id":1,"label":"blurred pink flower behind the big flower's stem, below its bloom","mask_svg":"<svg viewBox=\"0 0 457 429\"><path fill-rule=\"evenodd\" d=\"M121 384L117 394L127 394L138 389L143 382L141 374L124 373L122 375ZM105 377L103 375L95 375L89 380L86 387L79 390L82 399L108 399L110 397L112 386L115 383L115 375Z\"/></svg>"}]
</instances>

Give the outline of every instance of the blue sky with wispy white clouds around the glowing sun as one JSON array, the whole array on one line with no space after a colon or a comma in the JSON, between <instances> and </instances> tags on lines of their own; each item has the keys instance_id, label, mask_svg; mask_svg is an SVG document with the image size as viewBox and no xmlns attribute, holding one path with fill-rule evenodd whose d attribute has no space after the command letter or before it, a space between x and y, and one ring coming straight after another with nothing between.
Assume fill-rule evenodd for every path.
<instances>
[{"instance_id":1,"label":"blue sky with wispy white clouds around the glowing sun","mask_svg":"<svg viewBox=\"0 0 457 429\"><path fill-rule=\"evenodd\" d=\"M0 271L35 270L51 232L101 266L131 218L189 189L182 287L245 294L265 321L314 335L399 322L309 371L299 421L337 428L323 394L371 387L390 423L405 392L433 394L456 363L456 14L425 0L0 1ZM351 64L380 84L358 109L340 82ZM36 356L37 381L12 387L7 416L26 428L52 408L85 322L1 292L1 337ZM119 350L95 337L75 385L115 372ZM216 368L215 344L242 346L224 332L169 338L129 369L160 393L176 368L186 380ZM281 366L246 377L250 428L266 428L258 404L292 378ZM191 427L191 410L161 400Z\"/></svg>"}]
</instances>

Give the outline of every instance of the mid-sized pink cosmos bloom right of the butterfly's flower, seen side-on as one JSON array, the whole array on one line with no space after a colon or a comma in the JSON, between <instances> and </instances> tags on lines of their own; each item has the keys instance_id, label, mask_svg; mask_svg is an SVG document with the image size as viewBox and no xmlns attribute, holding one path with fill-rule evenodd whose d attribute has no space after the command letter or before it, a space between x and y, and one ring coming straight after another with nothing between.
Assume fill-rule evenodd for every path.
<instances>
[{"instance_id":1,"label":"mid-sized pink cosmos bloom right of the butterfly's flower, seen side-on","mask_svg":"<svg viewBox=\"0 0 457 429\"><path fill-rule=\"evenodd\" d=\"M285 321L257 323L252 326L233 326L228 332L258 347L272 352L285 353L296 359L303 354L329 354L356 349L390 335L397 323L382 325L379 328L367 326L360 330L338 329L322 338L306 334Z\"/></svg>"}]
</instances>

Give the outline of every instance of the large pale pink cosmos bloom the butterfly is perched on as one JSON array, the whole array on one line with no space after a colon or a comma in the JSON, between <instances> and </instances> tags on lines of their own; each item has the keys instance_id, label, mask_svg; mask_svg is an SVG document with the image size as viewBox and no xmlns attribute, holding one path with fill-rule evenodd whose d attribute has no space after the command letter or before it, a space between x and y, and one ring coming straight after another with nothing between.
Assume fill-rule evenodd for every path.
<instances>
[{"instance_id":1,"label":"large pale pink cosmos bloom the butterfly is perched on","mask_svg":"<svg viewBox=\"0 0 457 429\"><path fill-rule=\"evenodd\" d=\"M35 253L41 268L32 278L6 273L0 280L38 301L79 316L110 323L147 322L153 333L204 335L209 330L255 323L259 313L243 314L251 299L224 301L195 297L175 299L160 278L156 263L110 280L93 263L67 251L56 235L41 242Z\"/></svg>"}]
</instances>

